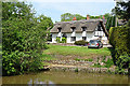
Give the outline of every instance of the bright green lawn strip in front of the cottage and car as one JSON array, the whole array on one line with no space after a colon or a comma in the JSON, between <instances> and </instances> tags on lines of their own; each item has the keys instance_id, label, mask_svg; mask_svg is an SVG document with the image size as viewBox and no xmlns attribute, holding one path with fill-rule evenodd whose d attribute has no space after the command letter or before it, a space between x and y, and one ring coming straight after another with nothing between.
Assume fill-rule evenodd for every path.
<instances>
[{"instance_id":1,"label":"bright green lawn strip in front of the cottage and car","mask_svg":"<svg viewBox=\"0 0 130 86\"><path fill-rule=\"evenodd\" d=\"M109 56L110 51L107 47L104 48L88 48L82 46L61 46L61 45L48 45L49 48L44 51L44 54L63 55L63 56Z\"/></svg>"}]
</instances>

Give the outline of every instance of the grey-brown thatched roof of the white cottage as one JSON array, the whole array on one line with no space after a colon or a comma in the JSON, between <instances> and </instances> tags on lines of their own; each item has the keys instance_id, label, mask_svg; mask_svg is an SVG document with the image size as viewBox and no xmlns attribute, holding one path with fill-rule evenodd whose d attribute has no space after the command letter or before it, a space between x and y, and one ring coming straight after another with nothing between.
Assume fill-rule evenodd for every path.
<instances>
[{"instance_id":1,"label":"grey-brown thatched roof of the white cottage","mask_svg":"<svg viewBox=\"0 0 130 86\"><path fill-rule=\"evenodd\" d=\"M76 22L60 22L54 25L51 29L51 33L58 32L57 28L62 28L61 32L73 32L72 28L76 28L76 32L82 32L82 27L87 28L87 31L94 31L96 26L103 23L101 19L89 19L89 20L76 20Z\"/></svg>"}]
</instances>

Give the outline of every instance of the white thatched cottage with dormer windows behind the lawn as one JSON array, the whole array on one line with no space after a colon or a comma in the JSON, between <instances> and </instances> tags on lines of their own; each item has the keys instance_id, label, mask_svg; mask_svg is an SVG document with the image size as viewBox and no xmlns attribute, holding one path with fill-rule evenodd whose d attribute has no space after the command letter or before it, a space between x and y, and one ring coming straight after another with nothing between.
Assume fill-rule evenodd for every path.
<instances>
[{"instance_id":1,"label":"white thatched cottage with dormer windows behind the lawn","mask_svg":"<svg viewBox=\"0 0 130 86\"><path fill-rule=\"evenodd\" d=\"M103 44L107 43L108 33L104 27L102 19L86 19L60 22L54 24L50 30L52 42L56 43L56 38L66 38L66 43L75 43L75 41L101 40Z\"/></svg>"}]
</instances>

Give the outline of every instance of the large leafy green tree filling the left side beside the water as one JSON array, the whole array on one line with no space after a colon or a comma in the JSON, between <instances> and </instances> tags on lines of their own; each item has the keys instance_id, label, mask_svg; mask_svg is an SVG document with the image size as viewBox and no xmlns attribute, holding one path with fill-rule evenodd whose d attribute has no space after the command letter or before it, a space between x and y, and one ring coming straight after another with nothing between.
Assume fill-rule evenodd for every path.
<instances>
[{"instance_id":1,"label":"large leafy green tree filling the left side beside the water","mask_svg":"<svg viewBox=\"0 0 130 86\"><path fill-rule=\"evenodd\" d=\"M38 22L34 17L31 4L25 2L2 2L2 13L3 75L41 69L42 49L47 48L44 30L48 24L42 27L42 19Z\"/></svg>"}]
</instances>

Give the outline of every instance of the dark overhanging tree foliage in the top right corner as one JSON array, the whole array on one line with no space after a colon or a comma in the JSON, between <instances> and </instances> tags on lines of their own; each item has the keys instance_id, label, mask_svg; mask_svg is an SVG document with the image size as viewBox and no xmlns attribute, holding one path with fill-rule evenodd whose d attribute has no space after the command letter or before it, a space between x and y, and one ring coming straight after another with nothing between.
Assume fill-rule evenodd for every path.
<instances>
[{"instance_id":1,"label":"dark overhanging tree foliage in the top right corner","mask_svg":"<svg viewBox=\"0 0 130 86\"><path fill-rule=\"evenodd\" d=\"M130 1L128 2L117 2L117 6L115 6L114 9L116 11L116 15L119 18L125 19L126 22L128 22L130 19ZM114 12L113 10L113 12Z\"/></svg>"}]
</instances>

